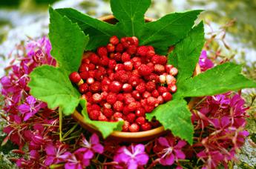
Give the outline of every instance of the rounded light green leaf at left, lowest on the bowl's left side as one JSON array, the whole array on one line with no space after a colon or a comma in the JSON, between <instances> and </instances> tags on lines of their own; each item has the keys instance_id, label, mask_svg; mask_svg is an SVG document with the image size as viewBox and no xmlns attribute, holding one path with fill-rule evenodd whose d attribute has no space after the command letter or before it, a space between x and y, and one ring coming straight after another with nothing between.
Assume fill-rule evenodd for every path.
<instances>
[{"instance_id":1,"label":"rounded light green leaf at left, lowest on the bowl's left side","mask_svg":"<svg viewBox=\"0 0 256 169\"><path fill-rule=\"evenodd\" d=\"M71 84L68 74L57 67L43 65L30 73L30 94L47 102L50 109L62 107L70 115L79 104L80 93Z\"/></svg>"}]
</instances>

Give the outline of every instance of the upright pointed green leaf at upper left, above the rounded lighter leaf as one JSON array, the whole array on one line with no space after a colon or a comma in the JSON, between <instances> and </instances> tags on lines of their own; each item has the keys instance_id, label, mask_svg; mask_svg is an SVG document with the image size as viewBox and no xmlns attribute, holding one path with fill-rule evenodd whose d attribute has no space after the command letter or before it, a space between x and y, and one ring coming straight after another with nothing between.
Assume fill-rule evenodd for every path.
<instances>
[{"instance_id":1,"label":"upright pointed green leaf at upper left, above the rounded lighter leaf","mask_svg":"<svg viewBox=\"0 0 256 169\"><path fill-rule=\"evenodd\" d=\"M62 70L71 73L77 71L88 44L88 36L78 24L72 23L66 16L61 16L50 7L49 38L52 45L51 55L57 60Z\"/></svg>"}]
</instances>

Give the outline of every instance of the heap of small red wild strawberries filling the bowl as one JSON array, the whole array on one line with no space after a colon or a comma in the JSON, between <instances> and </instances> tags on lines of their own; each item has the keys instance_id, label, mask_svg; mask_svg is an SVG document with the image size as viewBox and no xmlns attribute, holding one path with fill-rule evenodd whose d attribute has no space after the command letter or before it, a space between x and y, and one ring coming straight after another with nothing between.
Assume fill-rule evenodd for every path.
<instances>
[{"instance_id":1,"label":"heap of small red wild strawberries filling the bowl","mask_svg":"<svg viewBox=\"0 0 256 169\"><path fill-rule=\"evenodd\" d=\"M176 92L177 68L157 55L152 46L139 46L137 37L119 39L85 53L79 72L70 73L82 97L88 102L92 120L123 120L123 131L151 130L158 122L148 122L145 113L172 99Z\"/></svg>"}]
</instances>

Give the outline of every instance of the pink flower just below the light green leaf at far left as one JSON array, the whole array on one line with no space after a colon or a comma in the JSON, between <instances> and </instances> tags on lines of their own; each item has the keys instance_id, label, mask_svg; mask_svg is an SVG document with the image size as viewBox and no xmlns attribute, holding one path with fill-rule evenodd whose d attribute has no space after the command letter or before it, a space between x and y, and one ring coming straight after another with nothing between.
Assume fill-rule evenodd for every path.
<instances>
[{"instance_id":1,"label":"pink flower just below the light green leaf at far left","mask_svg":"<svg viewBox=\"0 0 256 169\"><path fill-rule=\"evenodd\" d=\"M19 105L18 110L24 114L24 121L26 121L43 107L46 107L44 102L37 103L33 96L27 96L26 102L24 102L22 105Z\"/></svg>"}]
</instances>

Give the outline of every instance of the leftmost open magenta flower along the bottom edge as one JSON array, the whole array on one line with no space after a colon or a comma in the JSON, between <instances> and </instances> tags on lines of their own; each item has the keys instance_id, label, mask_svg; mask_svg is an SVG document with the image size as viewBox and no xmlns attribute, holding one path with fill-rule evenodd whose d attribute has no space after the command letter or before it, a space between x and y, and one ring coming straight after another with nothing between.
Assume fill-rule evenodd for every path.
<instances>
[{"instance_id":1,"label":"leftmost open magenta flower along the bottom edge","mask_svg":"<svg viewBox=\"0 0 256 169\"><path fill-rule=\"evenodd\" d=\"M47 145L45 147L45 152L47 157L45 159L45 165L49 166L52 164L58 164L59 162L65 162L70 156L68 150L68 145L62 143L57 143L55 146Z\"/></svg>"}]
</instances>

